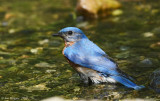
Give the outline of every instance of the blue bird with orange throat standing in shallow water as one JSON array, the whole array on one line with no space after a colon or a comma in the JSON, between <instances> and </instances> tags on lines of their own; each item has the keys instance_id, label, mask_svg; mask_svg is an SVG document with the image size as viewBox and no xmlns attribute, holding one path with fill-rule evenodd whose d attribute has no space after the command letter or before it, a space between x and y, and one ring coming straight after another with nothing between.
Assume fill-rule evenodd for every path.
<instances>
[{"instance_id":1,"label":"blue bird with orange throat standing in shallow water","mask_svg":"<svg viewBox=\"0 0 160 101\"><path fill-rule=\"evenodd\" d=\"M53 36L64 39L65 47L62 53L84 83L119 82L135 90L144 88L133 83L133 79L122 72L118 65L80 29L66 27Z\"/></svg>"}]
</instances>

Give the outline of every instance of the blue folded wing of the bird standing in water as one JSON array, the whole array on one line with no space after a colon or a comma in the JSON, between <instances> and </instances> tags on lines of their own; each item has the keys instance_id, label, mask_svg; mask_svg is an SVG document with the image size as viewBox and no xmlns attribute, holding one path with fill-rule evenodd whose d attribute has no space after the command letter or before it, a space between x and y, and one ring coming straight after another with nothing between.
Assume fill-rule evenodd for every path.
<instances>
[{"instance_id":1,"label":"blue folded wing of the bird standing in water","mask_svg":"<svg viewBox=\"0 0 160 101\"><path fill-rule=\"evenodd\" d=\"M64 50L64 55L75 64L86 68L110 74L117 75L117 65L107 54L93 42L83 39Z\"/></svg>"}]
</instances>

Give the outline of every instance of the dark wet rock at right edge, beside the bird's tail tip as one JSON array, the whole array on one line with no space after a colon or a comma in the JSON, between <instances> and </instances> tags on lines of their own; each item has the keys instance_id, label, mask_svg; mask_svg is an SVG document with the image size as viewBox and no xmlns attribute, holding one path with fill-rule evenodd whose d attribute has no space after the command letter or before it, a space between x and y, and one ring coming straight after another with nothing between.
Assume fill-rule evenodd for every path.
<instances>
[{"instance_id":1,"label":"dark wet rock at right edge, beside the bird's tail tip","mask_svg":"<svg viewBox=\"0 0 160 101\"><path fill-rule=\"evenodd\" d=\"M160 93L160 68L150 75L150 87Z\"/></svg>"}]
</instances>

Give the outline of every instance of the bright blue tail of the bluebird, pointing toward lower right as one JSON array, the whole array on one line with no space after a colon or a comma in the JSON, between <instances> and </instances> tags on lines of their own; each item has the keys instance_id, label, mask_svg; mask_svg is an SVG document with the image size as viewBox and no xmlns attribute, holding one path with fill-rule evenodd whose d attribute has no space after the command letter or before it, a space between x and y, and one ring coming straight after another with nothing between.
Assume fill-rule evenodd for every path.
<instances>
[{"instance_id":1,"label":"bright blue tail of the bluebird, pointing toward lower right","mask_svg":"<svg viewBox=\"0 0 160 101\"><path fill-rule=\"evenodd\" d=\"M133 88L135 90L140 90L142 88L145 88L145 86L143 85L136 85L135 83L133 83L132 81L130 81L129 79L122 77L122 76L110 76L111 78L113 78L114 80L118 81L119 83L125 85L128 88Z\"/></svg>"}]
</instances>

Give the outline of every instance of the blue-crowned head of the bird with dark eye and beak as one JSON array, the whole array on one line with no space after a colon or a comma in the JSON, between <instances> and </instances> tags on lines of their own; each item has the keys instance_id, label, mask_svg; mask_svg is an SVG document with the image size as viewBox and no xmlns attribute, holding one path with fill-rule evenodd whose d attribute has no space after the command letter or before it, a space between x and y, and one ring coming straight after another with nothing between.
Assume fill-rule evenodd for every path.
<instances>
[{"instance_id":1,"label":"blue-crowned head of the bird with dark eye and beak","mask_svg":"<svg viewBox=\"0 0 160 101\"><path fill-rule=\"evenodd\" d=\"M83 38L87 38L86 35L76 27L66 27L61 29L58 33L53 36L60 36L65 42L76 42Z\"/></svg>"}]
</instances>

